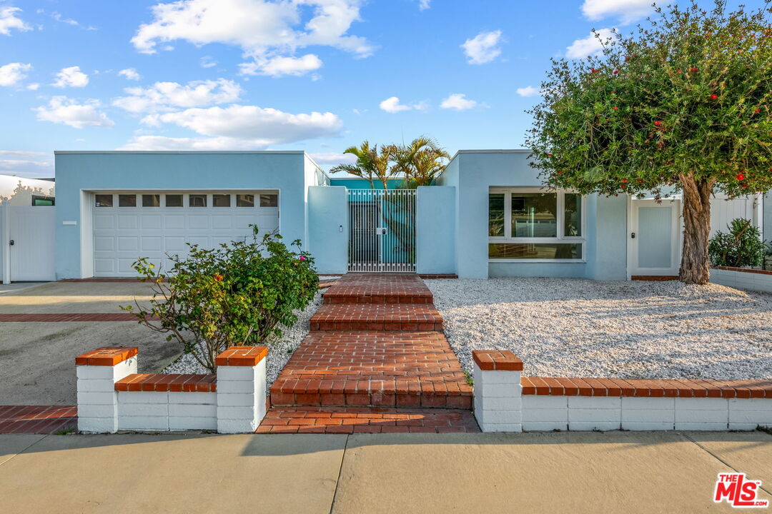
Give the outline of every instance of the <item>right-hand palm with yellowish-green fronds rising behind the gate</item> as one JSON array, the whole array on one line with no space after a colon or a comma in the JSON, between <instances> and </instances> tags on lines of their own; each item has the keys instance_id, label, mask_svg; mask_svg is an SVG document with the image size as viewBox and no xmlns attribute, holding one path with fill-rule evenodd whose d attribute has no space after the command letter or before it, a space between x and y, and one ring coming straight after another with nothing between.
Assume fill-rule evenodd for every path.
<instances>
[{"instance_id":1,"label":"right-hand palm with yellowish-green fronds rising behind the gate","mask_svg":"<svg viewBox=\"0 0 772 514\"><path fill-rule=\"evenodd\" d=\"M439 146L436 139L418 136L407 146L394 150L397 173L405 176L405 187L430 186L445 171L449 153Z\"/></svg>"}]
</instances>

